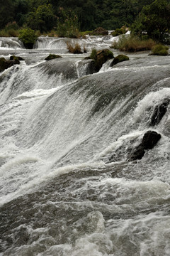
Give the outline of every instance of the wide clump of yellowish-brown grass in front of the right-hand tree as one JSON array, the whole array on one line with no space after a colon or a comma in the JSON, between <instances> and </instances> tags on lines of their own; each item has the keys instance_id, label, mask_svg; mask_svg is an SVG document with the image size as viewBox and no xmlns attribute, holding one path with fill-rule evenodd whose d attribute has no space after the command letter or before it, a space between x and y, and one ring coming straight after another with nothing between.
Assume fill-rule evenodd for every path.
<instances>
[{"instance_id":1,"label":"wide clump of yellowish-brown grass in front of the right-hand tree","mask_svg":"<svg viewBox=\"0 0 170 256\"><path fill-rule=\"evenodd\" d=\"M140 50L151 50L155 46L155 42L152 39L142 40L137 36L121 36L118 42L114 42L112 48L136 52Z\"/></svg>"}]
</instances>

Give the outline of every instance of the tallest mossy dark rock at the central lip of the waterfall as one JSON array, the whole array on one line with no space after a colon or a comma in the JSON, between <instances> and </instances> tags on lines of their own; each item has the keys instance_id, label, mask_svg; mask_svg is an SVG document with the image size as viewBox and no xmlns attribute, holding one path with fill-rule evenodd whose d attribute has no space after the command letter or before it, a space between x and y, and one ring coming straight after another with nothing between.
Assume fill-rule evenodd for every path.
<instances>
[{"instance_id":1,"label":"tallest mossy dark rock at the central lip of the waterfall","mask_svg":"<svg viewBox=\"0 0 170 256\"><path fill-rule=\"evenodd\" d=\"M103 50L92 50L91 59L95 62L96 72L98 72L102 65L106 63L107 60L114 58L111 50L103 49Z\"/></svg>"}]
</instances>

